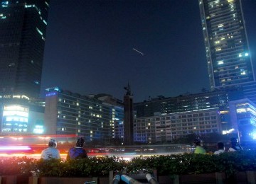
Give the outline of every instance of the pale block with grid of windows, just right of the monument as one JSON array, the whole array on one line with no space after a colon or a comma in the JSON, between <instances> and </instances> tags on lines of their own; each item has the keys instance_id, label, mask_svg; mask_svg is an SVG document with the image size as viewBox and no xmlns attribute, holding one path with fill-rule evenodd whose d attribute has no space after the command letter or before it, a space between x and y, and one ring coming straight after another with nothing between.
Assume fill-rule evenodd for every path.
<instances>
[{"instance_id":1,"label":"pale block with grid of windows, just right of the monument","mask_svg":"<svg viewBox=\"0 0 256 184\"><path fill-rule=\"evenodd\" d=\"M218 108L181 113L155 113L134 120L134 142L172 142L187 134L206 134L222 130Z\"/></svg>"}]
</instances>

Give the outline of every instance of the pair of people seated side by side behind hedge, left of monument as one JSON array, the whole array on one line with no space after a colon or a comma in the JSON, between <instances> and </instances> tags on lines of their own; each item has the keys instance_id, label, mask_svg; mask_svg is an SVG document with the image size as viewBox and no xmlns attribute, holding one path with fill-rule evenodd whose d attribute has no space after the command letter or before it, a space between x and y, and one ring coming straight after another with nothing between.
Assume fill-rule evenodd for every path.
<instances>
[{"instance_id":1,"label":"pair of people seated side by side behind hedge, left of monument","mask_svg":"<svg viewBox=\"0 0 256 184\"><path fill-rule=\"evenodd\" d=\"M67 155L67 161L73 160L73 159L84 159L88 158L87 153L85 149L83 149L83 146L85 145L85 139L80 137L75 146L70 148ZM41 159L43 160L49 160L49 159L60 159L60 151L57 149L57 142L55 139L50 139L48 143L48 148L43 149L41 153Z\"/></svg>"}]
</instances>

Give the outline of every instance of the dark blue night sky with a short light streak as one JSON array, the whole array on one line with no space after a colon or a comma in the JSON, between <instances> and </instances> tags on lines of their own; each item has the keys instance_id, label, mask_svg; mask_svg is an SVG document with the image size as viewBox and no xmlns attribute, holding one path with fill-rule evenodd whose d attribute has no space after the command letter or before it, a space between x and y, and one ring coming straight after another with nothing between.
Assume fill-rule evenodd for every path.
<instances>
[{"instance_id":1,"label":"dark blue night sky with a short light streak","mask_svg":"<svg viewBox=\"0 0 256 184\"><path fill-rule=\"evenodd\" d=\"M255 64L256 1L242 5ZM59 86L122 100L128 81L135 102L209 89L198 1L51 0L42 96Z\"/></svg>"}]
</instances>

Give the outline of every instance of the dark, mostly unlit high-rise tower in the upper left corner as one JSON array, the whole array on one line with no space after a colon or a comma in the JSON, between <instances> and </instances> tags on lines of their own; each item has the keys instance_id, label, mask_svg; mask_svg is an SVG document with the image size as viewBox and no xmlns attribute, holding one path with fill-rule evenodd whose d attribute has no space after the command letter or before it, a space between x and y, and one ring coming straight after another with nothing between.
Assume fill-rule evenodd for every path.
<instances>
[{"instance_id":1,"label":"dark, mostly unlit high-rise tower in the upper left corner","mask_svg":"<svg viewBox=\"0 0 256 184\"><path fill-rule=\"evenodd\" d=\"M37 98L49 0L0 2L0 96Z\"/></svg>"}]
</instances>

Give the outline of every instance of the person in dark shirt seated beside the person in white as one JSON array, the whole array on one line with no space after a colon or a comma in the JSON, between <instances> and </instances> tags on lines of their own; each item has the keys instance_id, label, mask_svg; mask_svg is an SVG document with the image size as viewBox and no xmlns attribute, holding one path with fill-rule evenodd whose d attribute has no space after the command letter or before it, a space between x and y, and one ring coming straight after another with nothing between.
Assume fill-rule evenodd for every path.
<instances>
[{"instance_id":1,"label":"person in dark shirt seated beside the person in white","mask_svg":"<svg viewBox=\"0 0 256 184\"><path fill-rule=\"evenodd\" d=\"M82 147L85 145L85 139L80 137L76 142L76 145L68 151L67 161L72 159L87 159L87 153Z\"/></svg>"}]
</instances>

